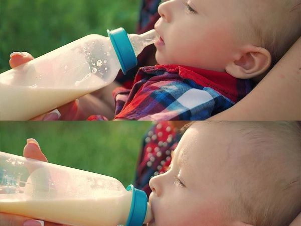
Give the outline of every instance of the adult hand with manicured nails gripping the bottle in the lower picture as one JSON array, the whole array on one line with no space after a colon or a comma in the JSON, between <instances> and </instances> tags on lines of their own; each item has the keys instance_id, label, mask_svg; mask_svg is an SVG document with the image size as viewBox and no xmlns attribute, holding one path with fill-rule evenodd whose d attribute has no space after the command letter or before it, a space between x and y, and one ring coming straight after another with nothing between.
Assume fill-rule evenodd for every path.
<instances>
[{"instance_id":1,"label":"adult hand with manicured nails gripping the bottle in the lower picture","mask_svg":"<svg viewBox=\"0 0 301 226\"><path fill-rule=\"evenodd\" d=\"M35 139L28 139L23 151L24 157L48 162ZM0 226L64 226L63 224L35 220L30 217L0 212Z\"/></svg>"}]
</instances>

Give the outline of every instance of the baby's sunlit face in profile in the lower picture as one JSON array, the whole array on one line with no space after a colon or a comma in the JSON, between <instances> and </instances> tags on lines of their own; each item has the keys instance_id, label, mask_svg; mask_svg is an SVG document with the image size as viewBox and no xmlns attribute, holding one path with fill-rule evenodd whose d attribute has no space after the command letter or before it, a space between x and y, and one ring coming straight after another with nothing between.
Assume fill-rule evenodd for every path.
<instances>
[{"instance_id":1,"label":"baby's sunlit face in profile in the lower picture","mask_svg":"<svg viewBox=\"0 0 301 226\"><path fill-rule=\"evenodd\" d=\"M204 123L185 132L171 169L149 182L155 217L149 226L236 225L225 209L237 193L231 183L240 175L236 156L247 148L233 141L235 133Z\"/></svg>"}]
</instances>

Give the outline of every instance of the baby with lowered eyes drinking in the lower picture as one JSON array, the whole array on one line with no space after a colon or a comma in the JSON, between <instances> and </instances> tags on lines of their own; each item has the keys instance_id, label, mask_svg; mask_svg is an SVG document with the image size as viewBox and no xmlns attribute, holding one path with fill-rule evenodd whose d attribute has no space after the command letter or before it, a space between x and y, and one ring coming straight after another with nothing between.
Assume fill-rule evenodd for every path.
<instances>
[{"instance_id":1,"label":"baby with lowered eyes drinking in the lower picture","mask_svg":"<svg viewBox=\"0 0 301 226\"><path fill-rule=\"evenodd\" d=\"M148 225L288 225L301 212L300 167L297 123L194 123L149 182Z\"/></svg>"}]
</instances>

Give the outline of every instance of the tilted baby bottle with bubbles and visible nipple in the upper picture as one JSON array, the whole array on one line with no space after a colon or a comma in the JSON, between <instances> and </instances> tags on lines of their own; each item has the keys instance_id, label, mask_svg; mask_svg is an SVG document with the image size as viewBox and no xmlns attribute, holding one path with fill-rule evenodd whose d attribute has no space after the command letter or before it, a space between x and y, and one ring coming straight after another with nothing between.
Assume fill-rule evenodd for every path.
<instances>
[{"instance_id":1,"label":"tilted baby bottle with bubbles and visible nipple in the upper picture","mask_svg":"<svg viewBox=\"0 0 301 226\"><path fill-rule=\"evenodd\" d=\"M107 33L85 36L0 74L0 120L29 120L108 85L159 39L155 30Z\"/></svg>"}]
</instances>

